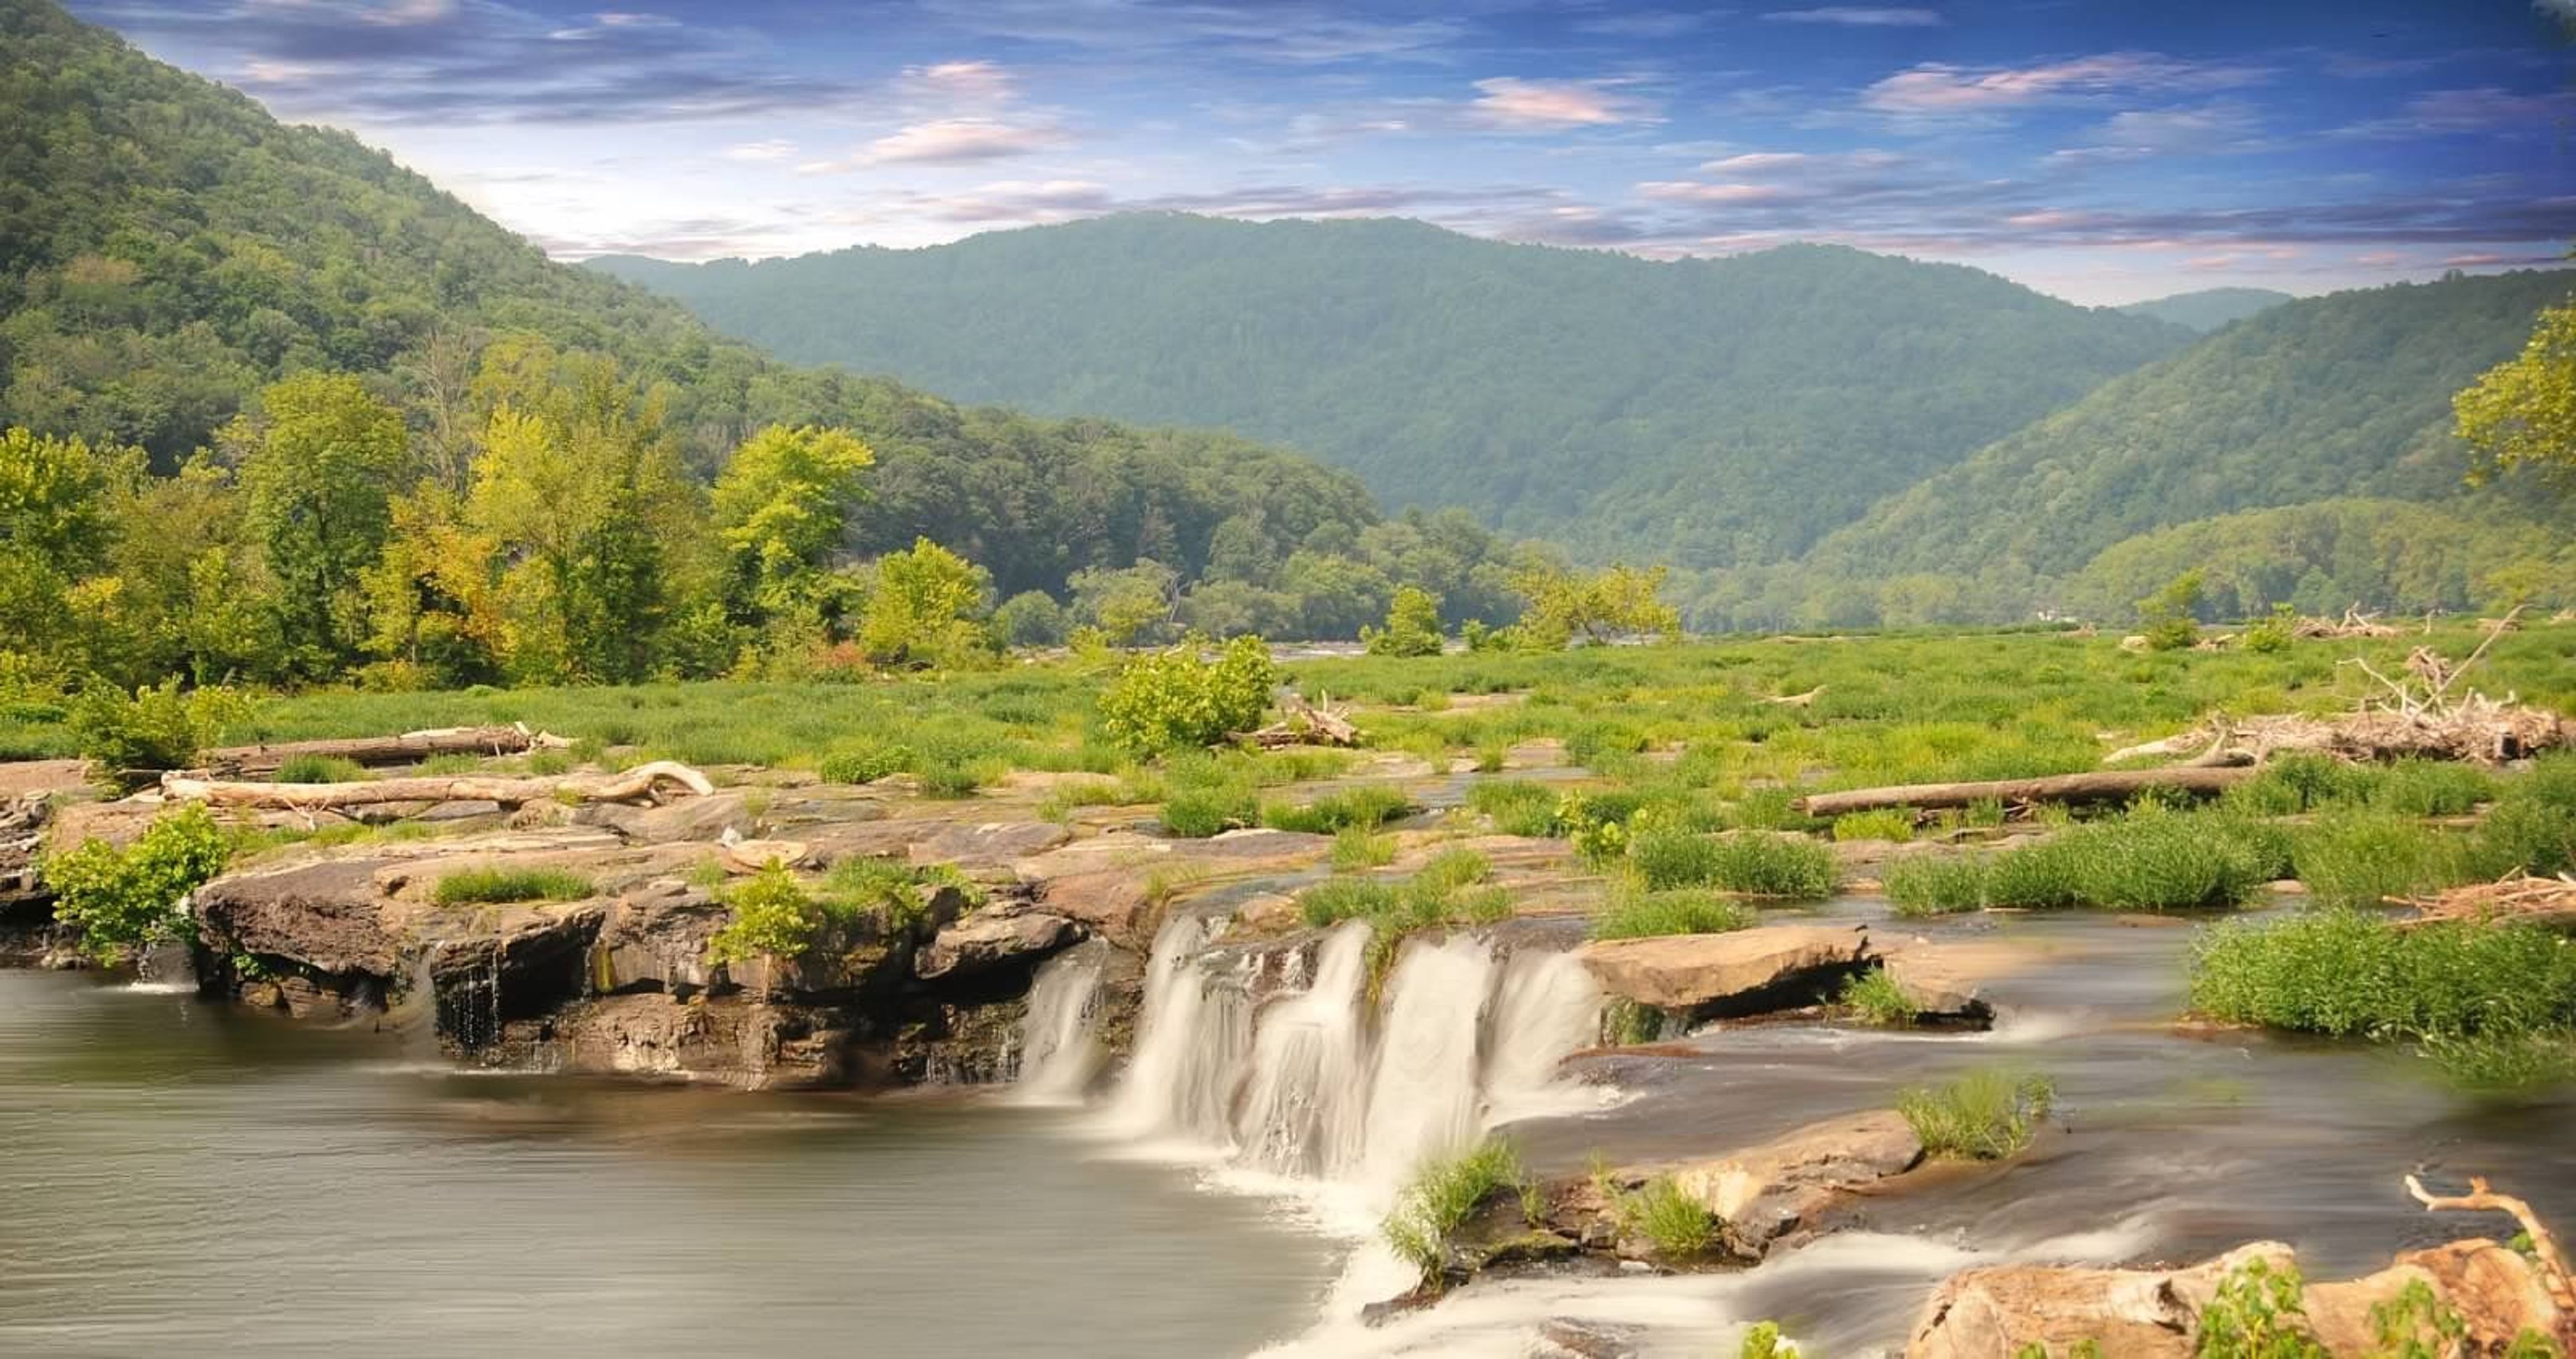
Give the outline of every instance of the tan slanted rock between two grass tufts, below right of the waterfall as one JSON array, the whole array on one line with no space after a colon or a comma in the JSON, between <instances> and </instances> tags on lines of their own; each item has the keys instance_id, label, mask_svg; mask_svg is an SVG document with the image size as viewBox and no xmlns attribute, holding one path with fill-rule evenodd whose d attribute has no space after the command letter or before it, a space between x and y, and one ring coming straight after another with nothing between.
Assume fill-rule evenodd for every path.
<instances>
[{"instance_id":1,"label":"tan slanted rock between two grass tufts, below right of the waterfall","mask_svg":"<svg viewBox=\"0 0 2576 1359\"><path fill-rule=\"evenodd\" d=\"M1904 1114L1870 1109L1667 1174L1726 1220L1736 1246L1759 1256L1790 1230L1816 1225L1844 1194L1906 1174L1922 1158L1922 1138Z\"/></svg>"}]
</instances>

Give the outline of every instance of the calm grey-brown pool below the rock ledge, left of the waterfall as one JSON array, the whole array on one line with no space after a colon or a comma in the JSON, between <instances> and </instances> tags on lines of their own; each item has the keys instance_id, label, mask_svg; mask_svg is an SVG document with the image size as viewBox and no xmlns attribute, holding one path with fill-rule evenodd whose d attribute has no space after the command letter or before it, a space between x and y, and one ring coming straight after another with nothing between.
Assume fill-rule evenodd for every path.
<instances>
[{"instance_id":1,"label":"calm grey-brown pool below the rock ledge, left of the waterfall","mask_svg":"<svg viewBox=\"0 0 2576 1359\"><path fill-rule=\"evenodd\" d=\"M0 970L0 1354L1244 1354L1332 1248L1041 1109L402 1063Z\"/></svg>"}]
</instances>

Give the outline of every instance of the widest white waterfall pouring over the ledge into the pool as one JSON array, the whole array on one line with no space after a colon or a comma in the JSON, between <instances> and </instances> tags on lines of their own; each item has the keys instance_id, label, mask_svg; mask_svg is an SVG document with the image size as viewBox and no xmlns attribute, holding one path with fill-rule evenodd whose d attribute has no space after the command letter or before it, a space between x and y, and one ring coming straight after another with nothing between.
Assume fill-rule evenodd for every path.
<instances>
[{"instance_id":1,"label":"widest white waterfall pouring over the ledge into the pool","mask_svg":"<svg viewBox=\"0 0 2576 1359\"><path fill-rule=\"evenodd\" d=\"M1185 1140L1334 1187L1376 1220L1422 1161L1574 1107L1556 1063L1595 1032L1600 991L1569 955L1414 939L1373 1006L1370 927L1350 921L1316 947L1303 988L1255 1006L1257 963L1208 950L1221 929L1224 916L1188 916L1154 937L1136 1055L1108 1112L1115 1138Z\"/></svg>"}]
</instances>

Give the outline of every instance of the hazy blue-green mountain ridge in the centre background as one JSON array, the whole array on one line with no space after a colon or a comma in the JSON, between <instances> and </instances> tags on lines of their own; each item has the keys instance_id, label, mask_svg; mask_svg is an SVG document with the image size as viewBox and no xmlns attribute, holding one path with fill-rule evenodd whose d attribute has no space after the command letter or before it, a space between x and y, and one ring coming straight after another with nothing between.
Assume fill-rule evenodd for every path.
<instances>
[{"instance_id":1,"label":"hazy blue-green mountain ridge in the centre background","mask_svg":"<svg viewBox=\"0 0 2576 1359\"><path fill-rule=\"evenodd\" d=\"M1396 504L1700 566L1788 559L2190 342L1860 250L1659 263L1419 221L1136 214L930 250L592 265L786 358L1216 425Z\"/></svg>"}]
</instances>

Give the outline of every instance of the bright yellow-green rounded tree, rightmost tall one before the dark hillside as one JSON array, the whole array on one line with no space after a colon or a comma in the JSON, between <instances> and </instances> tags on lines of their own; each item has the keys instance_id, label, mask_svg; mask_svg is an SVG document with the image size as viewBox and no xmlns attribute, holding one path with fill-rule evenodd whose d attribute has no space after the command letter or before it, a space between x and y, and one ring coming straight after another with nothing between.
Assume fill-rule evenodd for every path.
<instances>
[{"instance_id":1,"label":"bright yellow-green rounded tree, rightmost tall one before the dark hillside","mask_svg":"<svg viewBox=\"0 0 2576 1359\"><path fill-rule=\"evenodd\" d=\"M770 425L747 438L716 479L716 535L726 584L752 613L778 613L822 571L842 520L860 499L858 476L876 453L848 430Z\"/></svg>"}]
</instances>

